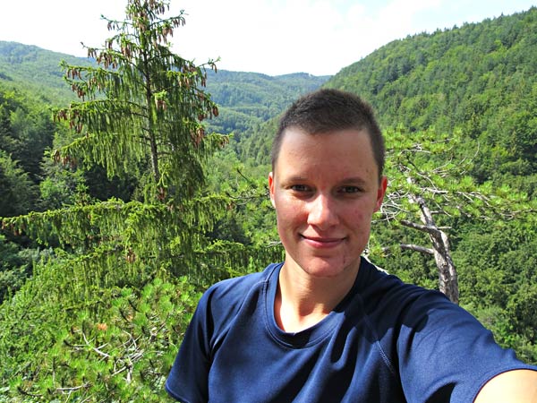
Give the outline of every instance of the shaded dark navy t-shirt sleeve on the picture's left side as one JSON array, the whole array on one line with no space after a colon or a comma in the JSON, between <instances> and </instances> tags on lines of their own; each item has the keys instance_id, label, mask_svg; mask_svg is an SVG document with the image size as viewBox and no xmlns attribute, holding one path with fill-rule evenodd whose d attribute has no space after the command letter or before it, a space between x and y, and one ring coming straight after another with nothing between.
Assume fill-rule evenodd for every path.
<instances>
[{"instance_id":1,"label":"shaded dark navy t-shirt sleeve on the picture's left side","mask_svg":"<svg viewBox=\"0 0 537 403\"><path fill-rule=\"evenodd\" d=\"M212 324L208 306L209 292L200 298L166 380L167 393L183 403L209 400L209 332Z\"/></svg>"}]
</instances>

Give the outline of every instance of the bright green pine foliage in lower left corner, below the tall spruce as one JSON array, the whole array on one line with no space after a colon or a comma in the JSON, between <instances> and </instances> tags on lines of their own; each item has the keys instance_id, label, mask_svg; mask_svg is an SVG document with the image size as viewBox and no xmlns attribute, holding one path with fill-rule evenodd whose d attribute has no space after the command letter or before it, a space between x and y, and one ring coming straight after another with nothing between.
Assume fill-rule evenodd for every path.
<instances>
[{"instance_id":1,"label":"bright green pine foliage in lower left corner, below the tall spruce","mask_svg":"<svg viewBox=\"0 0 537 403\"><path fill-rule=\"evenodd\" d=\"M47 264L0 308L0 379L18 401L165 401L163 385L199 294L187 279L94 288L65 305ZM36 287L48 285L50 288ZM52 291L52 292L51 292Z\"/></svg>"}]
</instances>

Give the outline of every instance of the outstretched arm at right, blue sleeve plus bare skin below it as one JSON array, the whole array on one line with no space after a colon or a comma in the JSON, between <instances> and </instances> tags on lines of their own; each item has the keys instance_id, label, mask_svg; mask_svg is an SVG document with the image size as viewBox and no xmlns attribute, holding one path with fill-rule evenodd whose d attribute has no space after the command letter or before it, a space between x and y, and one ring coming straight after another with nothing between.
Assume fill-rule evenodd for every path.
<instances>
[{"instance_id":1,"label":"outstretched arm at right, blue sleeve plus bare skin below it","mask_svg":"<svg viewBox=\"0 0 537 403\"><path fill-rule=\"evenodd\" d=\"M535 368L499 347L470 313L425 298L405 316L399 336L399 371L408 400L436 397L451 386L450 401L537 403ZM425 370L424 362L434 371Z\"/></svg>"}]
</instances>

